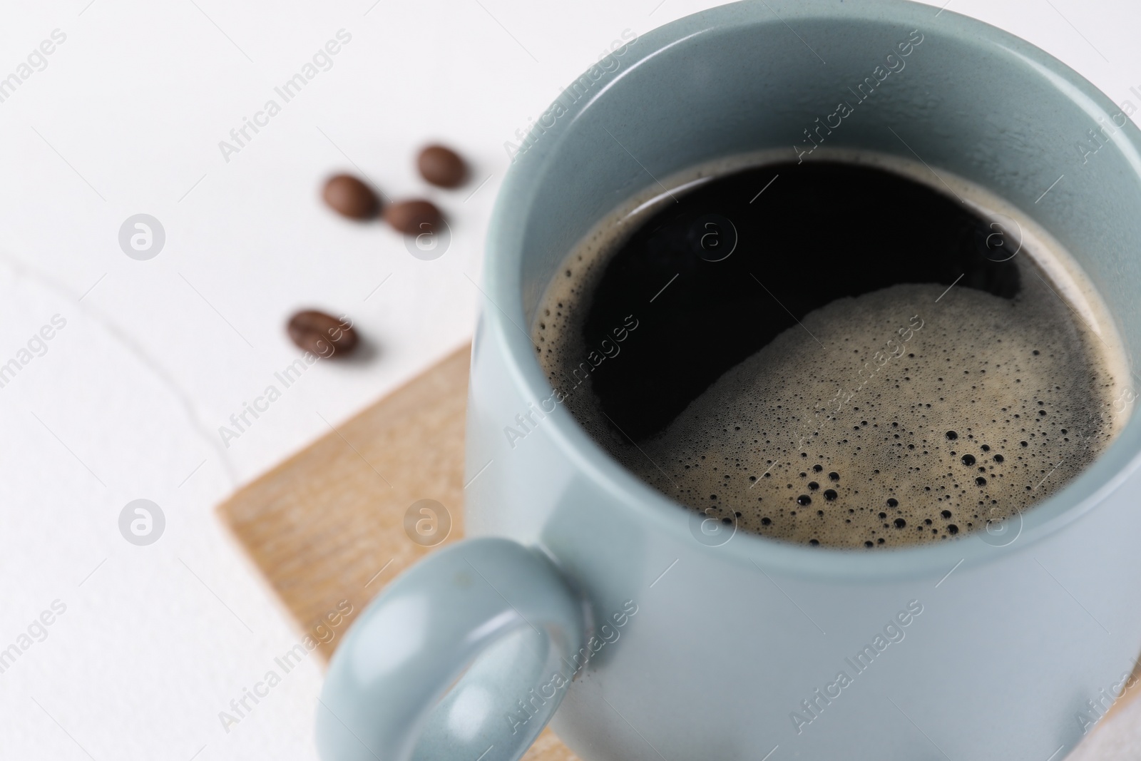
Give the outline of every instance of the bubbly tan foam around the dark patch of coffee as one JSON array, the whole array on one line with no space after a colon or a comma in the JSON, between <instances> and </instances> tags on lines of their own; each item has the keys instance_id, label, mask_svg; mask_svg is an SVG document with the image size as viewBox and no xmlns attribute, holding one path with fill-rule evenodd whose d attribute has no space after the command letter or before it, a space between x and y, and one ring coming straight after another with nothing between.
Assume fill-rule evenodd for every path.
<instances>
[{"instance_id":1,"label":"bubbly tan foam around the dark patch of coffee","mask_svg":"<svg viewBox=\"0 0 1141 761\"><path fill-rule=\"evenodd\" d=\"M913 180L925 171L921 181L939 189L922 165L858 160ZM756 162L722 160L666 187ZM964 180L940 172L938 181L980 216L1018 220L1023 289L1015 299L936 284L840 299L634 446L607 423L589 379L576 384L569 371L590 350L581 325L608 254L670 200L647 192L602 220L552 280L533 327L541 364L578 422L623 465L744 531L891 547L1014 516L1061 488L1120 429L1125 415L1114 414L1112 402L1115 379L1127 377L1125 353L1100 297L1042 228Z\"/></svg>"}]
</instances>

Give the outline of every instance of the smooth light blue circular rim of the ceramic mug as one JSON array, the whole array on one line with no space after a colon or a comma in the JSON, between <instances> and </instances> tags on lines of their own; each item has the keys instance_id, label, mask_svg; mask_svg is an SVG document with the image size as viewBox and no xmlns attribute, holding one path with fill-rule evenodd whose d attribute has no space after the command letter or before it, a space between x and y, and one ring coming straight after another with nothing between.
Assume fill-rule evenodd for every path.
<instances>
[{"instance_id":1,"label":"smooth light blue circular rim of the ceramic mug","mask_svg":"<svg viewBox=\"0 0 1141 761\"><path fill-rule=\"evenodd\" d=\"M801 0L791 6L778 0L772 2L780 7L780 16L777 16L764 0L742 0L685 16L639 35L638 43L640 46L645 43L640 57L616 72L616 75L592 97L569 107L565 123L573 124L614 83L652 58L691 38L717 30L761 23L783 24L787 18L799 21L851 18L898 25L909 23L919 18L919 14L932 9L932 6L911 0L869 0L860 3L858 8L840 9L827 0ZM1076 102L1079 96L1098 107L1107 118L1111 113L1106 110L1106 104L1114 105L1108 96L1046 51L986 22L950 10L940 11L940 15L942 14L946 14L947 18L940 22L940 34L978 47L1013 54L1030 63L1042 79L1047 81L1057 79L1062 82L1067 90L1063 95L1070 100ZM1057 86L1057 82L1051 83ZM1089 104L1078 105L1089 110ZM1132 120L1126 126L1130 127L1131 130L1122 130L1120 137L1128 140L1134 152L1141 153L1139 151L1141 145L1135 139L1141 132L1132 124ZM520 327L521 324L526 324L520 280L520 265L525 256L523 230L531 213L528 201L533 195L533 188L544 181L548 170L547 157L555 152L559 138L561 135L556 135L553 140L537 141L525 154L518 155L509 168L488 226L483 275L485 294L492 305L492 308L484 310L484 329L494 331L504 349L502 359L507 365L510 382L534 399L549 396L552 388L535 358L529 333ZM1141 165L1128 161L1125 163L1131 164L1133 173L1141 178ZM524 332L526 340L519 338L519 332ZM949 575L949 570L960 566L980 566L1008 557L1012 552L1021 552L1095 509L1141 464L1141 447L1138 446L1138 442L1132 440L1138 437L1126 437L1130 429L1141 424L1135 420L1138 415L1132 414L1123 431L1090 467L1062 489L1022 513L1020 534L1004 547L979 541L980 533L986 531L981 526L949 542L914 544L871 552L859 548L810 547L744 531L735 532L723 544L710 547L695 541L690 535L688 524L690 517L697 515L696 512L626 470L583 430L568 410L563 412L564 414L549 415L550 420L544 426L556 448L584 477L614 495L615 501L624 509L636 511L647 529L664 533L682 543L696 544L699 549L695 551L720 553L723 559L752 564L784 575L834 582L906 581L924 575L944 573ZM1100 485L1091 488L1091 483L1097 480L1101 481ZM1074 500L1071 494L1078 491L1086 492L1085 496Z\"/></svg>"}]
</instances>

